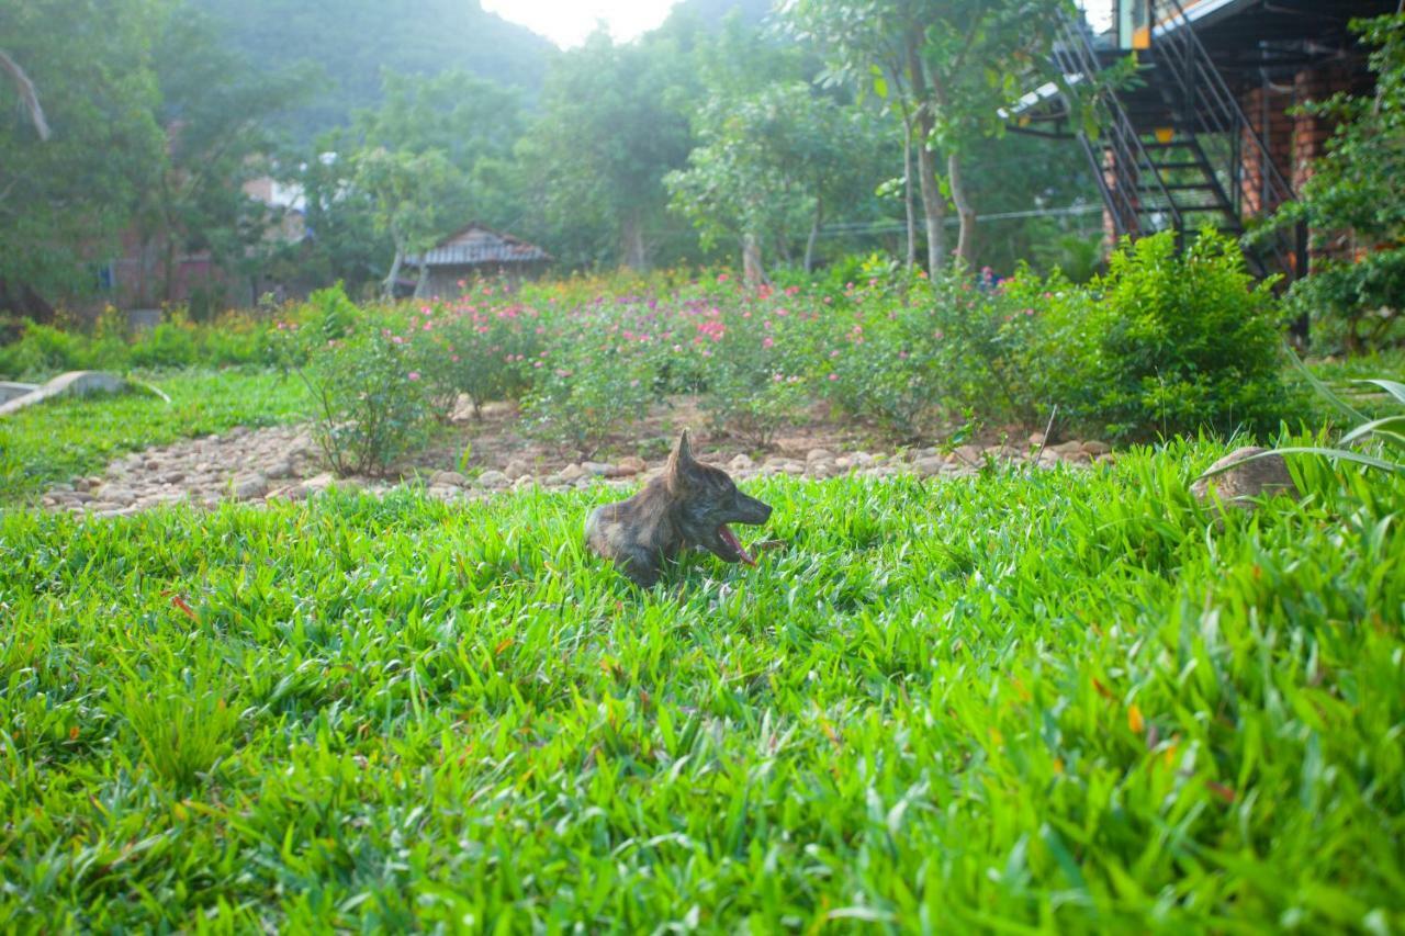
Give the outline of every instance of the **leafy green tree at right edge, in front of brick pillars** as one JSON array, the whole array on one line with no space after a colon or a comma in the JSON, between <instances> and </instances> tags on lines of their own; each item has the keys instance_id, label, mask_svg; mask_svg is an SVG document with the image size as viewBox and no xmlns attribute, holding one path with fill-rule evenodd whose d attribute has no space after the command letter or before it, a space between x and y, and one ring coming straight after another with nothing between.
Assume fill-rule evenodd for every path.
<instances>
[{"instance_id":1,"label":"leafy green tree at right edge, in front of brick pillars","mask_svg":"<svg viewBox=\"0 0 1405 936\"><path fill-rule=\"evenodd\" d=\"M1405 306L1405 14L1354 27L1374 46L1375 93L1307 107L1340 121L1338 129L1301 198L1256 232L1266 238L1307 222L1325 250L1290 299L1339 319L1352 351L1384 340Z\"/></svg>"}]
</instances>

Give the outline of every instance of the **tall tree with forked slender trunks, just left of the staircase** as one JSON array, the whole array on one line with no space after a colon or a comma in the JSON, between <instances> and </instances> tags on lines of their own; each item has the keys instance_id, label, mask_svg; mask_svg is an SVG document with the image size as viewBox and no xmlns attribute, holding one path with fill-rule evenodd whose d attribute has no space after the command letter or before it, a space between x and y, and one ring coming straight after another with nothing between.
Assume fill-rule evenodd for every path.
<instances>
[{"instance_id":1,"label":"tall tree with forked slender trunks, just left of the staircase","mask_svg":"<svg viewBox=\"0 0 1405 936\"><path fill-rule=\"evenodd\" d=\"M1005 129L1000 108L1058 79L1048 48L1066 0L787 0L797 35L828 49L830 74L880 97L896 96L917 138L927 263L944 261L946 193L960 218L957 256L975 259L976 212L967 178L972 145Z\"/></svg>"}]
</instances>

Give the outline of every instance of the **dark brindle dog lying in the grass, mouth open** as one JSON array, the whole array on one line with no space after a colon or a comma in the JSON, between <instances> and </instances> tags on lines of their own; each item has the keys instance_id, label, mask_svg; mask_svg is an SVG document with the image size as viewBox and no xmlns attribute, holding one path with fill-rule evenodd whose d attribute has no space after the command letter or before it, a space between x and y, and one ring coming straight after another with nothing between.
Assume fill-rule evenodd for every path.
<instances>
[{"instance_id":1,"label":"dark brindle dog lying in the grass, mouth open","mask_svg":"<svg viewBox=\"0 0 1405 936\"><path fill-rule=\"evenodd\" d=\"M684 429L663 474L628 500L590 513L586 544L635 585L651 587L663 564L687 547L754 566L756 559L726 524L760 526L770 516L770 505L738 490L725 471L693 458Z\"/></svg>"}]
</instances>

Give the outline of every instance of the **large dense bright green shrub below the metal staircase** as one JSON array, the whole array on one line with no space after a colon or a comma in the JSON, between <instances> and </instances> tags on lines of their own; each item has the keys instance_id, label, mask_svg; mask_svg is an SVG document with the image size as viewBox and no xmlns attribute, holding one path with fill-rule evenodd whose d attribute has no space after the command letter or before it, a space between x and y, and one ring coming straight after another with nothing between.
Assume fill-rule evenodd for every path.
<instances>
[{"instance_id":1,"label":"large dense bright green shrub below the metal staircase","mask_svg":"<svg viewBox=\"0 0 1405 936\"><path fill-rule=\"evenodd\" d=\"M1075 422L1114 438L1264 430L1283 415L1280 309L1239 246L1204 230L1124 243L1087 292L1055 281L1024 360Z\"/></svg>"}]
</instances>

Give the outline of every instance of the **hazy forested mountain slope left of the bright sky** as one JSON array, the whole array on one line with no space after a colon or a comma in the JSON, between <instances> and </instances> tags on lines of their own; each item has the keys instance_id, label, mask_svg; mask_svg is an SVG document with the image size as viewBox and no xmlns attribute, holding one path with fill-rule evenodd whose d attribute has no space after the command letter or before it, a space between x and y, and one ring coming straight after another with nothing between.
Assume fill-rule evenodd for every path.
<instances>
[{"instance_id":1,"label":"hazy forested mountain slope left of the bright sky","mask_svg":"<svg viewBox=\"0 0 1405 936\"><path fill-rule=\"evenodd\" d=\"M284 122L301 139L381 100L381 70L462 69L535 97L555 46L478 0L191 0L257 65L313 62L325 87Z\"/></svg>"}]
</instances>

